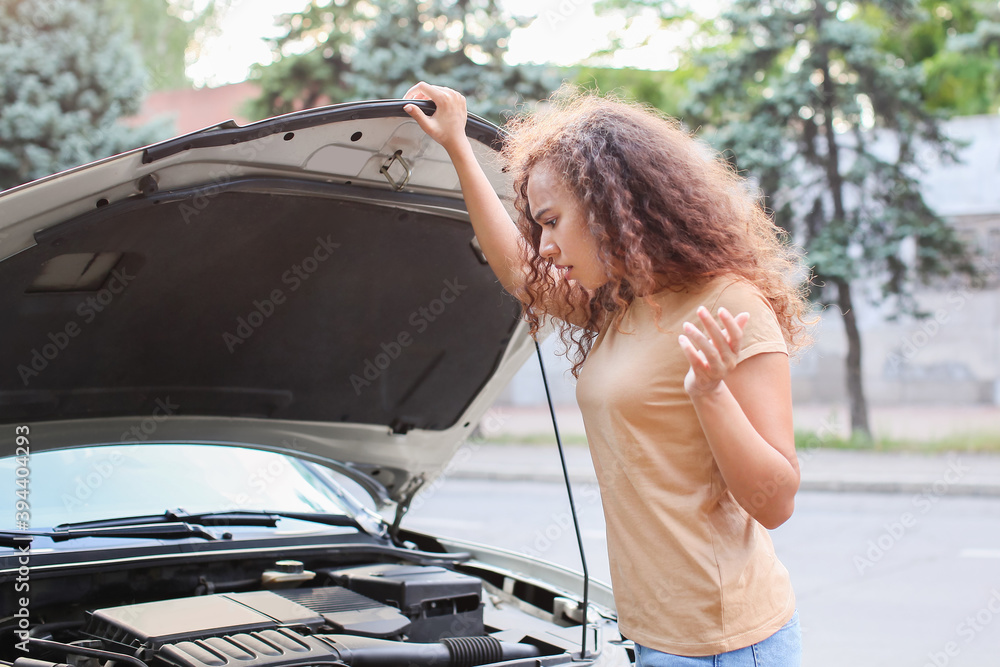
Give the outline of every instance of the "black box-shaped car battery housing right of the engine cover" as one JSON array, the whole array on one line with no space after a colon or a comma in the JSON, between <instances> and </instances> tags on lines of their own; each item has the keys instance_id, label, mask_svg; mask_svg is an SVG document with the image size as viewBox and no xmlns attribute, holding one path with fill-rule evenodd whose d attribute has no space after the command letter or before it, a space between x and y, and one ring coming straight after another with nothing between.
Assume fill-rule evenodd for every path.
<instances>
[{"instance_id":1,"label":"black box-shaped car battery housing right of the engine cover","mask_svg":"<svg viewBox=\"0 0 1000 667\"><path fill-rule=\"evenodd\" d=\"M443 567L378 563L319 570L329 583L398 607L410 641L482 635L482 582Z\"/></svg>"}]
</instances>

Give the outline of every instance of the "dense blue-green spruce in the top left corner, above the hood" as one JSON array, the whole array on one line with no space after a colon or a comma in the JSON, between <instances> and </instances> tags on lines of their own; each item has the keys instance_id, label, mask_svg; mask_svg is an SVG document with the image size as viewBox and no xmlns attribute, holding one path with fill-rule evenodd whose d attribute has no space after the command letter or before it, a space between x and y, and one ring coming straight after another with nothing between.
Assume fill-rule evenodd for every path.
<instances>
[{"instance_id":1,"label":"dense blue-green spruce in the top left corner, above the hood","mask_svg":"<svg viewBox=\"0 0 1000 667\"><path fill-rule=\"evenodd\" d=\"M0 188L142 146L142 61L104 0L0 0Z\"/></svg>"}]
</instances>

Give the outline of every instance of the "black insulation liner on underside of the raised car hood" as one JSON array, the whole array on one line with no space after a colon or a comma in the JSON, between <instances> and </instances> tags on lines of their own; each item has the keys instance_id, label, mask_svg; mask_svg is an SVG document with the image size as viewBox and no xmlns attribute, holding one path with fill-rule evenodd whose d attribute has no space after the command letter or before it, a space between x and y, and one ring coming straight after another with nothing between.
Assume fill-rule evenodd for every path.
<instances>
[{"instance_id":1,"label":"black insulation liner on underside of the raised car hood","mask_svg":"<svg viewBox=\"0 0 1000 667\"><path fill-rule=\"evenodd\" d=\"M0 421L167 406L395 432L453 425L520 307L471 247L460 201L345 192L365 194L246 179L40 232L0 263ZM400 208L442 201L443 216ZM92 274L88 254L120 259L99 289L80 290L63 274Z\"/></svg>"}]
</instances>

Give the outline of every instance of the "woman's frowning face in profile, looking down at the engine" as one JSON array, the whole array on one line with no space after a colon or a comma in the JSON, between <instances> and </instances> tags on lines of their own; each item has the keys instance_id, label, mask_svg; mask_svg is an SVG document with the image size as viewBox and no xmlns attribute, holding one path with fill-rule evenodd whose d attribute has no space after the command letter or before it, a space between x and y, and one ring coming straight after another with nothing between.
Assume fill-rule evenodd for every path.
<instances>
[{"instance_id":1,"label":"woman's frowning face in profile, looking down at the engine","mask_svg":"<svg viewBox=\"0 0 1000 667\"><path fill-rule=\"evenodd\" d=\"M586 289L608 281L583 206L548 165L540 164L528 174L528 206L541 227L539 255L552 260L566 280L575 280Z\"/></svg>"}]
</instances>

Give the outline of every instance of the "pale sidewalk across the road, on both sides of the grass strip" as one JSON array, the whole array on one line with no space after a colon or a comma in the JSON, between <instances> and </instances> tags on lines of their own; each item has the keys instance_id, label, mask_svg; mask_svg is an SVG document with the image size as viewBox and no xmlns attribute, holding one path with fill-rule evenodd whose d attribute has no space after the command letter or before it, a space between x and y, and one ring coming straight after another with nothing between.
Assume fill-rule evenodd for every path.
<instances>
[{"instance_id":1,"label":"pale sidewalk across the road, on both sides of the grass strip","mask_svg":"<svg viewBox=\"0 0 1000 667\"><path fill-rule=\"evenodd\" d=\"M561 406L556 412L565 446L567 469L575 483L594 483L594 468L586 446L578 444L584 434L576 406ZM828 419L829 411L807 415ZM897 429L893 435L920 433L937 437L949 432L997 432L1000 409L932 408L917 406L873 411L876 432ZM796 415L797 422L800 421ZM551 435L548 408L500 407L484 420L486 442L470 442L470 453L456 457L448 475L466 479L561 481L555 439L551 444L519 444L518 437L537 442ZM807 428L819 428L808 426ZM828 427L829 428L829 427ZM948 429L952 429L949 431ZM491 437L502 443L489 442ZM914 436L910 436L914 437ZM921 454L808 448L798 451L803 491L856 493L926 493L940 495L985 495L1000 497L1000 453L949 452Z\"/></svg>"}]
</instances>

